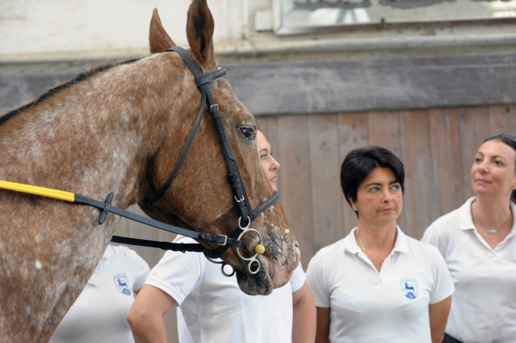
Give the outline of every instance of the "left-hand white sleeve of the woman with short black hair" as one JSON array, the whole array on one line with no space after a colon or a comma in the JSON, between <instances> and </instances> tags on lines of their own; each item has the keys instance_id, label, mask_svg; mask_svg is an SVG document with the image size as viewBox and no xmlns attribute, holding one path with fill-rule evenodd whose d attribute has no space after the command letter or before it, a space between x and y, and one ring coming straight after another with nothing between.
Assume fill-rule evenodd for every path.
<instances>
[{"instance_id":1,"label":"left-hand white sleeve of the woman with short black hair","mask_svg":"<svg viewBox=\"0 0 516 343\"><path fill-rule=\"evenodd\" d=\"M326 280L326 264L322 251L319 250L311 259L306 269L306 283L309 285L315 306L330 307L330 293Z\"/></svg>"}]
</instances>

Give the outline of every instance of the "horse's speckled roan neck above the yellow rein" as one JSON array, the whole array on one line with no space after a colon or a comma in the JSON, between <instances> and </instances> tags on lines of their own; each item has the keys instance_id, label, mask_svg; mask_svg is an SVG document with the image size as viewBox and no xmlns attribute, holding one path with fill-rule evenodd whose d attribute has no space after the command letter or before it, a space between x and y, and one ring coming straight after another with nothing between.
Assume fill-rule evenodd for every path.
<instances>
[{"instance_id":1,"label":"horse's speckled roan neck above the yellow rein","mask_svg":"<svg viewBox=\"0 0 516 343\"><path fill-rule=\"evenodd\" d=\"M113 67L5 122L0 179L135 202L146 164L181 129L183 107L200 102L174 63L149 56Z\"/></svg>"}]
</instances>

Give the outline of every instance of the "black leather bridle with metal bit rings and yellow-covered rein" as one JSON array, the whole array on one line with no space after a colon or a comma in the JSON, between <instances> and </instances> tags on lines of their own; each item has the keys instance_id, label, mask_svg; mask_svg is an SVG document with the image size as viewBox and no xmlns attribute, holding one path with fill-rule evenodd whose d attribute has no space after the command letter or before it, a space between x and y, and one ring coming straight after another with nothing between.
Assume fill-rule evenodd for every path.
<instances>
[{"instance_id":1,"label":"black leather bridle with metal bit rings and yellow-covered rein","mask_svg":"<svg viewBox=\"0 0 516 343\"><path fill-rule=\"evenodd\" d=\"M71 192L65 192L63 190L53 190L50 188L43 188L38 186L30 186L25 184L17 184L10 181L2 181L0 180L0 188L7 190L14 190L16 192L25 192L34 195L40 195L43 197L50 197L54 199L60 199L63 201L69 201L72 203L78 203L83 205L89 205L102 210L100 214L100 218L98 220L99 225L102 225L106 219L106 216L109 212L113 214L117 214L121 217L125 217L127 219L131 219L133 221L137 221L139 223L143 223L146 225L153 226L154 228L159 228L161 230L166 230L168 232L172 232L175 234L181 234L183 236L188 236L193 239L197 239L199 241L205 241L210 243L217 243L220 247L215 250L207 250L203 245L199 243L169 243L169 242L158 242L158 241L150 241L146 239L133 239L129 237L121 237L121 236L113 236L111 241L115 243L123 243L129 245L139 245L144 247L157 247L162 250L172 250L177 252L203 252L208 261L221 265L221 271L225 276L233 276L235 270L233 268L232 273L228 274L225 272L224 267L227 265L224 261L214 261L219 258L224 252L229 249L229 247L235 247L236 253L240 258L244 261L249 261L247 263L247 271L250 274L256 274L260 270L260 262L256 259L258 257L258 252L249 258L246 258L240 254L240 245L242 244L242 237L244 234L248 232L254 232L258 235L258 243L262 244L262 236L260 232L253 228L249 228L251 225L251 221L254 221L263 211L267 210L270 206L273 205L276 201L278 201L279 194L278 192L274 192L272 197L264 201L257 208L252 210L251 205L249 203L249 198L247 197L247 193L245 192L245 186L243 185L242 178L240 177L240 171L238 170L238 166L236 164L236 159L232 152L231 146L227 140L227 135L224 130L224 126L221 120L221 113L218 111L218 104L215 103L214 98L212 96L212 92L210 90L209 83L215 80L219 80L225 77L226 70L223 68L217 69L216 71L212 71L209 74L204 74L203 71L197 66L197 63L193 60L192 56L181 47L172 47L170 49L166 49L165 52L177 52L181 58L183 58L184 62L192 71L192 74L195 78L195 83L199 90L201 91L201 108L199 109L199 113L197 114L197 118L194 122L194 126L192 127L192 131L190 131L190 135L188 135L188 139L186 144L179 155L179 159L177 160L174 169L170 173L167 181L155 197L150 201L142 201L143 206L153 206L157 200L159 200L166 193L172 181L174 181L179 168L181 168L181 164L188 153L188 149L192 144L192 140L194 139L194 135L199 127L201 122L201 118L204 113L205 105L208 104L210 108L210 114L212 115L212 119L216 126L216 131L218 132L219 137L221 138L221 144L223 148L224 157L226 160L227 168L228 168L228 179L232 186L234 200L236 203L236 210L238 212L238 227L233 230L229 236L224 234L210 234L207 232L196 232L193 230L187 230L184 228L179 228L174 225L169 225L166 223L162 223L160 221L156 221L154 219L150 219L147 217L140 216L138 214L128 212L126 210L122 210L121 208L117 208L115 206L111 206L111 201L113 201L113 193L109 193L106 197L106 201L98 201L96 199L91 199L88 197L84 197L82 195L78 195ZM231 266L232 267L232 266Z\"/></svg>"}]
</instances>

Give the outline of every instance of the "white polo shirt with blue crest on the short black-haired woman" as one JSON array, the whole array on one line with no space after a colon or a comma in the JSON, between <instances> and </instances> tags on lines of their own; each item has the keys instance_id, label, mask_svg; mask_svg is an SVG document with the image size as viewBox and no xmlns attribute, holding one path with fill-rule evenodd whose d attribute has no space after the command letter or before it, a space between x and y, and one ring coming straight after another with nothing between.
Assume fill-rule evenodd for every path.
<instances>
[{"instance_id":1,"label":"white polo shirt with blue crest on the short black-haired woman","mask_svg":"<svg viewBox=\"0 0 516 343\"><path fill-rule=\"evenodd\" d=\"M378 272L356 230L319 250L306 270L315 305L330 308L330 342L431 343L429 305L453 293L442 256L397 228Z\"/></svg>"}]
</instances>

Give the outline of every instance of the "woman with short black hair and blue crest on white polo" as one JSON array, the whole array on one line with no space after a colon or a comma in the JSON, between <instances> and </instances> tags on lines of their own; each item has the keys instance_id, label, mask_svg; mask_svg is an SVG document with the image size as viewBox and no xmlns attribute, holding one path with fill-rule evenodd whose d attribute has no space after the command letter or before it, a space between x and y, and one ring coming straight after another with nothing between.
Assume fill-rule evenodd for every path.
<instances>
[{"instance_id":1,"label":"woman with short black hair and blue crest on white polo","mask_svg":"<svg viewBox=\"0 0 516 343\"><path fill-rule=\"evenodd\" d=\"M378 146L351 151L344 196L359 223L322 248L306 271L317 305L316 342L440 342L453 280L435 247L405 236L403 164Z\"/></svg>"}]
</instances>

